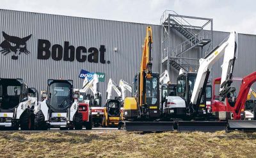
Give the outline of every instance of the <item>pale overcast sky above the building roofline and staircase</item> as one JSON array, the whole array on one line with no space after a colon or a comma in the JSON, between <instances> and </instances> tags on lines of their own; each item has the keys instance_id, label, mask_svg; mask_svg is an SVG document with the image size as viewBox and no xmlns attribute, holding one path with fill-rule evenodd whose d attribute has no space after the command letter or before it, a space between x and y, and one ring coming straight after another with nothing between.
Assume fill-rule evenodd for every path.
<instances>
[{"instance_id":1,"label":"pale overcast sky above the building roofline and staircase","mask_svg":"<svg viewBox=\"0 0 256 158\"><path fill-rule=\"evenodd\" d=\"M256 34L253 0L1 0L0 8L159 24L164 10L213 19L216 31Z\"/></svg>"}]
</instances>

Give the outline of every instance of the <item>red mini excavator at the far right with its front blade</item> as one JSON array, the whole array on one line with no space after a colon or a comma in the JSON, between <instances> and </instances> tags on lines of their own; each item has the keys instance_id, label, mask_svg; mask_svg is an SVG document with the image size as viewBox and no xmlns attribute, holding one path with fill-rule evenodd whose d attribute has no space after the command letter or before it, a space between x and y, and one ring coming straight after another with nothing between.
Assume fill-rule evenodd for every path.
<instances>
[{"instance_id":1,"label":"red mini excavator at the far right with its front blade","mask_svg":"<svg viewBox=\"0 0 256 158\"><path fill-rule=\"evenodd\" d=\"M214 84L218 84L218 81L220 81L220 78L215 79ZM221 98L217 100L217 97L214 96L214 100L212 100L212 113L215 113L220 120L228 118L232 119L228 120L228 130L256 130L255 120L243 120L244 105L247 95L252 84L255 82L256 72L253 72L252 74L243 77L237 97L235 95L229 95L224 99L224 101L221 101Z\"/></svg>"}]
</instances>

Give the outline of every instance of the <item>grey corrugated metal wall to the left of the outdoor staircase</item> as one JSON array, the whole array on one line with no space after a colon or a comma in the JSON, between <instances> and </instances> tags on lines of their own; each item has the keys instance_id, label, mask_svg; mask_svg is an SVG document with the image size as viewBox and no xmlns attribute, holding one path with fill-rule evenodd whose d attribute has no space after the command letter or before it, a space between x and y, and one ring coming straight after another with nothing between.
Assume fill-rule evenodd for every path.
<instances>
[{"instance_id":1,"label":"grey corrugated metal wall to the left of the outdoor staircase","mask_svg":"<svg viewBox=\"0 0 256 158\"><path fill-rule=\"evenodd\" d=\"M141 50L144 44L147 24L118 22L111 20L85 19L42 13L17 12L0 10L0 31L8 35L24 37L32 34L28 40L26 55L20 54L19 59L11 59L11 53L0 55L0 77L23 78L31 87L40 90L47 88L47 79L73 79L74 86L81 88L83 80L79 79L81 68L89 72L104 72L106 80L99 83L103 101L106 99L106 88L109 78L115 83L124 79L132 84L134 74L138 72L141 61ZM152 26L152 25L151 25ZM152 26L153 58L156 72L160 71L160 36L159 26ZM51 44L70 42L75 47L96 47L106 45L106 61L102 63L79 63L78 61L54 61L53 59L37 59L38 39L49 40ZM3 35L0 41L3 42ZM117 47L118 51L114 51ZM88 54L87 54L88 55Z\"/></svg>"}]
</instances>

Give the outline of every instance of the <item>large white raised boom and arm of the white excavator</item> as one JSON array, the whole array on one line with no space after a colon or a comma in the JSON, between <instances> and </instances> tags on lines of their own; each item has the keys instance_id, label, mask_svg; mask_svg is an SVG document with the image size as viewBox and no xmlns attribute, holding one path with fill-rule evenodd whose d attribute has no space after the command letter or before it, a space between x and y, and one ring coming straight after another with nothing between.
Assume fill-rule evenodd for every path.
<instances>
[{"instance_id":1,"label":"large white raised boom and arm of the white excavator","mask_svg":"<svg viewBox=\"0 0 256 158\"><path fill-rule=\"evenodd\" d=\"M220 59L223 54L223 65L221 65L221 96L227 96L228 93L236 90L234 88L232 90L228 89L230 88L230 84L232 83L230 80L232 79L234 63L236 60L236 45L237 33L235 31L232 31L226 42L216 47L216 49L214 49L211 53L205 56L204 59L200 59L200 67L196 75L195 86L193 88L190 100L192 108L200 104L200 100L202 99L202 95L204 94L205 87L209 78L210 69L212 65L216 63L216 61L218 61L218 59Z\"/></svg>"}]
</instances>

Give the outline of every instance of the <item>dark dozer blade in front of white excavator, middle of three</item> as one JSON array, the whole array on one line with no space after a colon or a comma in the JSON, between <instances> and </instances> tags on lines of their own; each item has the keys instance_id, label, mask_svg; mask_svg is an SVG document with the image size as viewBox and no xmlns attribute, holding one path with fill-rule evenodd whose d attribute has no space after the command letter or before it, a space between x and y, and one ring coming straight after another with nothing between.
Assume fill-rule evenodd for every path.
<instances>
[{"instance_id":1,"label":"dark dozer blade in front of white excavator, middle of three","mask_svg":"<svg viewBox=\"0 0 256 158\"><path fill-rule=\"evenodd\" d=\"M215 132L218 130L225 130L227 122L215 121L179 121L177 122L177 130L182 131L202 131Z\"/></svg>"}]
</instances>

